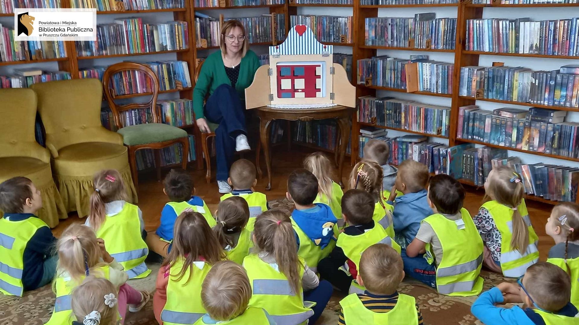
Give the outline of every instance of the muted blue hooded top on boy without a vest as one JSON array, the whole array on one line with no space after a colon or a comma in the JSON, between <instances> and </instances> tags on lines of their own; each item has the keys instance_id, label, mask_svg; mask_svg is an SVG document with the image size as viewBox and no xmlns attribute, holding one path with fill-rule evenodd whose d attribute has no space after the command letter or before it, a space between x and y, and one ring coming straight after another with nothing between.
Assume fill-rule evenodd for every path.
<instances>
[{"instance_id":1,"label":"muted blue hooded top on boy without a vest","mask_svg":"<svg viewBox=\"0 0 579 325\"><path fill-rule=\"evenodd\" d=\"M420 221L434 213L426 201L427 194L427 190L422 190L416 193L404 194L395 200L392 217L394 232L396 235L402 235L406 239L406 245L400 243L403 247L410 245L416 237L420 228ZM390 201L388 203L392 204Z\"/></svg>"}]
</instances>

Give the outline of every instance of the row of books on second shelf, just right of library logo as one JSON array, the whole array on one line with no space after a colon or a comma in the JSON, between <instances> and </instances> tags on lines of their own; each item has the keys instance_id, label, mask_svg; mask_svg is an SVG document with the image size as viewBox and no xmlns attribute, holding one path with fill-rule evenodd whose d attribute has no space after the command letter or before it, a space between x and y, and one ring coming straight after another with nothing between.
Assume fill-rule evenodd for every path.
<instances>
[{"instance_id":1,"label":"row of books on second shelf, just right of library logo","mask_svg":"<svg viewBox=\"0 0 579 325\"><path fill-rule=\"evenodd\" d=\"M186 21L144 24L140 17L115 20L113 24L98 24L96 41L76 42L79 57L152 53L188 47Z\"/></svg>"}]
</instances>

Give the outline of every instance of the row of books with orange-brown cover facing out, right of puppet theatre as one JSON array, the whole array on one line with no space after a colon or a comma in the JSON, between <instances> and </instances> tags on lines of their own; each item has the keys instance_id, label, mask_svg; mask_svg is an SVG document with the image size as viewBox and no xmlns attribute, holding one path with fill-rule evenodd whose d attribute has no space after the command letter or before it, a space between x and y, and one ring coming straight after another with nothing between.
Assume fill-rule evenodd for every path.
<instances>
[{"instance_id":1,"label":"row of books with orange-brown cover facing out, right of puppet theatre","mask_svg":"<svg viewBox=\"0 0 579 325\"><path fill-rule=\"evenodd\" d=\"M427 59L427 56L411 56L411 60L378 56L358 60L357 83L408 89L406 83L411 82L413 86L416 86L416 90L450 94L453 86L454 64ZM416 63L417 68L408 69L410 63Z\"/></svg>"}]
</instances>

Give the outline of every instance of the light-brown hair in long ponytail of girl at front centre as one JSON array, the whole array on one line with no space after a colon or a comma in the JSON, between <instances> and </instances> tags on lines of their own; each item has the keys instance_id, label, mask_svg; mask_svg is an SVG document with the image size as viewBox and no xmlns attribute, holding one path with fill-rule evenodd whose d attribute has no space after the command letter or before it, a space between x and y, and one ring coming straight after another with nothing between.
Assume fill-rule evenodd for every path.
<instances>
[{"instance_id":1,"label":"light-brown hair in long ponytail of girl at front centre","mask_svg":"<svg viewBox=\"0 0 579 325\"><path fill-rule=\"evenodd\" d=\"M279 208L263 212L255 221L254 235L258 248L276 257L280 272L288 278L294 293L298 293L302 286L299 270L303 265L298 258L298 244L287 212Z\"/></svg>"}]
</instances>

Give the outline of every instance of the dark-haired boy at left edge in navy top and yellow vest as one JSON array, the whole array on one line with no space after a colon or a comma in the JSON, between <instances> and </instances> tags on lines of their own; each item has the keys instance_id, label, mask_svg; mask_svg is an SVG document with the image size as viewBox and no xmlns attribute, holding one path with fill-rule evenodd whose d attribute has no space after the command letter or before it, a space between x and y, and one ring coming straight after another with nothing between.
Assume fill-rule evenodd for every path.
<instances>
[{"instance_id":1,"label":"dark-haired boy at left edge in navy top and yellow vest","mask_svg":"<svg viewBox=\"0 0 579 325\"><path fill-rule=\"evenodd\" d=\"M22 296L54 279L56 238L35 216L42 197L32 181L14 177L0 183L0 292Z\"/></svg>"}]
</instances>

